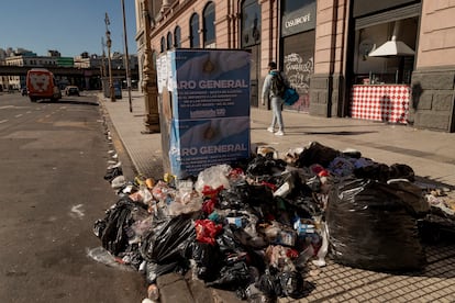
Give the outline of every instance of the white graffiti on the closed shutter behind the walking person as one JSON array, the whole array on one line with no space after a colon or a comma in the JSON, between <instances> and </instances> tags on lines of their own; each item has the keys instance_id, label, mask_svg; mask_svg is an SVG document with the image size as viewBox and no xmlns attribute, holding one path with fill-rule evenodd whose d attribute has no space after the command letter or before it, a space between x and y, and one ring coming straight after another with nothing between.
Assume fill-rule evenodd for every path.
<instances>
[{"instance_id":1,"label":"white graffiti on the closed shutter behind the walking person","mask_svg":"<svg viewBox=\"0 0 455 303\"><path fill-rule=\"evenodd\" d=\"M300 94L299 101L286 108L308 112L310 108L310 77L314 71L313 55L308 59L297 53L285 55L284 70L291 87L296 88Z\"/></svg>"}]
</instances>

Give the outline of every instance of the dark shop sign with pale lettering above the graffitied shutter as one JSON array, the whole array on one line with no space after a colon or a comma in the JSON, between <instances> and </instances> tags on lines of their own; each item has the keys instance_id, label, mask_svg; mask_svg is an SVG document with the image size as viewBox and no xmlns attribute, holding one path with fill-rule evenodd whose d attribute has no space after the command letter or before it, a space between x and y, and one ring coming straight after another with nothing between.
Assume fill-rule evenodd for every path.
<instances>
[{"instance_id":1,"label":"dark shop sign with pale lettering above the graffitied shutter","mask_svg":"<svg viewBox=\"0 0 455 303\"><path fill-rule=\"evenodd\" d=\"M308 5L285 12L281 18L281 36L289 36L297 33L315 29L317 3L312 2Z\"/></svg>"}]
</instances>

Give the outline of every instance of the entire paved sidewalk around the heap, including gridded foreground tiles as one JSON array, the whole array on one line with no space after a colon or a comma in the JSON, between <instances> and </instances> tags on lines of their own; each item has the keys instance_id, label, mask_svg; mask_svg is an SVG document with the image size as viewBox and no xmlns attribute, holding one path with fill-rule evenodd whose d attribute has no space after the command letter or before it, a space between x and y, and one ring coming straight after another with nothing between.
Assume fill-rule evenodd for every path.
<instances>
[{"instance_id":1,"label":"entire paved sidewalk around the heap, including gridded foreground tiles","mask_svg":"<svg viewBox=\"0 0 455 303\"><path fill-rule=\"evenodd\" d=\"M162 178L160 134L141 134L144 130L144 100L133 91L129 111L127 93L111 102L99 94L102 109L115 128L131 157L136 172ZM252 109L253 145L273 146L280 153L319 142L340 150L354 148L363 156L379 162L407 164L422 182L435 183L455 191L455 134L415 130L404 125L353 119L323 119L308 114L284 112L286 135L275 136L266 131L270 112ZM343 267L328 260L324 268L310 265L306 282L314 290L298 302L455 302L455 244L426 248L429 265L422 272L389 274ZM162 302L170 302L177 293L193 294L182 279L160 288ZM197 291L200 291L199 288ZM204 302L234 302L223 292L207 292ZM208 299L210 298L210 299ZM229 298L229 299L226 299ZM214 301L212 301L214 300ZM175 301L175 300L174 300ZM186 302L188 301L188 298ZM279 302L296 302L280 299Z\"/></svg>"}]
</instances>

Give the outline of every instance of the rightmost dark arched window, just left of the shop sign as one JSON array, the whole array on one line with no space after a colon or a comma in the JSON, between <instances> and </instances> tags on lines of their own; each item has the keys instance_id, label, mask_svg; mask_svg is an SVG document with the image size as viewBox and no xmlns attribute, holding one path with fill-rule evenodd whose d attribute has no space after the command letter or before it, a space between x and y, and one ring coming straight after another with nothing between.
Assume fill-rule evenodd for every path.
<instances>
[{"instance_id":1,"label":"rightmost dark arched window, just left of the shop sign","mask_svg":"<svg viewBox=\"0 0 455 303\"><path fill-rule=\"evenodd\" d=\"M242 47L260 43L260 5L256 0L242 2Z\"/></svg>"}]
</instances>

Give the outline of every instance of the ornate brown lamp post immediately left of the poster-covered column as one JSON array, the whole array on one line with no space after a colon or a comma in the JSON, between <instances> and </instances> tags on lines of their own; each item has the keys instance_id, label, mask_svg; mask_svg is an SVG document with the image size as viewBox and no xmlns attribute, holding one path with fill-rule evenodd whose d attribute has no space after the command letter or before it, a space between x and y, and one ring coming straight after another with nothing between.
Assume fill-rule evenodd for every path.
<instances>
[{"instance_id":1,"label":"ornate brown lamp post immediately left of the poster-covered column","mask_svg":"<svg viewBox=\"0 0 455 303\"><path fill-rule=\"evenodd\" d=\"M151 47L151 16L148 13L148 0L143 0L143 23L144 23L144 66L143 66L143 83L145 101L145 130L142 134L159 133L159 113L158 113L158 87L156 83L156 70L152 59Z\"/></svg>"}]
</instances>

